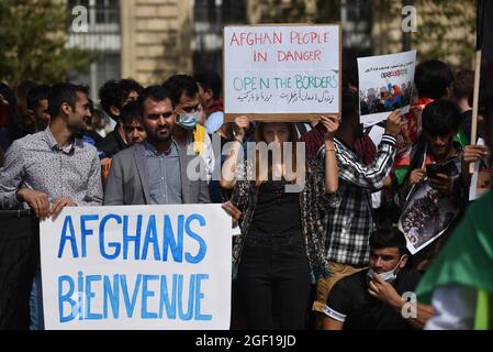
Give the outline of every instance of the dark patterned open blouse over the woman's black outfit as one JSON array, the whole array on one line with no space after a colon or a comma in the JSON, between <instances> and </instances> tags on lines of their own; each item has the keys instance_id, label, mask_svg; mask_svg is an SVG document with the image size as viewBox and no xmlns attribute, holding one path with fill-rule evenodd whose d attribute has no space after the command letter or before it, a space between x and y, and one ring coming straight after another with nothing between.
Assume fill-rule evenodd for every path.
<instances>
[{"instance_id":1,"label":"dark patterned open blouse over the woman's black outfit","mask_svg":"<svg viewBox=\"0 0 493 352\"><path fill-rule=\"evenodd\" d=\"M301 224L311 268L311 278L315 283L320 275L328 275L326 260L326 227L324 217L329 208L335 208L340 202L338 193L328 195L325 193L324 172L321 163L315 158L306 160L305 185L300 191ZM242 234L234 238L233 244L233 278L236 278L242 250L245 244L251 220L257 205L258 187L253 179L253 163L245 161L237 167L237 180L231 201L242 211Z\"/></svg>"}]
</instances>

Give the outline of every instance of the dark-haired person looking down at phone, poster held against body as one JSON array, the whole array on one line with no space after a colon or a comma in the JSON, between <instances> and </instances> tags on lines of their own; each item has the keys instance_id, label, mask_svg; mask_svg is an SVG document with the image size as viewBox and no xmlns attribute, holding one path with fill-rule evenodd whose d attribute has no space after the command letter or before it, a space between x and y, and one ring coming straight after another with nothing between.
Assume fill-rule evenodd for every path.
<instances>
[{"instance_id":1,"label":"dark-haired person looking down at phone, poster held against body","mask_svg":"<svg viewBox=\"0 0 493 352\"><path fill-rule=\"evenodd\" d=\"M414 248L411 252L419 271L430 265L448 238L447 229L467 204L469 164L463 163L462 146L455 141L459 123L456 103L440 99L426 106L423 134L411 150L412 172L395 197L402 209L400 228Z\"/></svg>"}]
</instances>

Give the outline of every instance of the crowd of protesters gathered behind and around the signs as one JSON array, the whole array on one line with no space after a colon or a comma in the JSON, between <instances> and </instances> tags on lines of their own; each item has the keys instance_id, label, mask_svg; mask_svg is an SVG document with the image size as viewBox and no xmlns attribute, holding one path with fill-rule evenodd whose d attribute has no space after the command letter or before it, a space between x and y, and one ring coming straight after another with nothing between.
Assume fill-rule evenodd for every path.
<instances>
[{"instance_id":1,"label":"crowd of protesters gathered behind and around the signs","mask_svg":"<svg viewBox=\"0 0 493 352\"><path fill-rule=\"evenodd\" d=\"M439 276L435 262L451 265L440 257L450 256L444 246L467 234L464 224L453 232L469 204L470 163L491 165L493 98L486 84L479 135L489 147L466 138L472 78L471 72L453 75L436 59L421 63L413 117L389 112L378 143L362 130L351 79L341 82L340 114L313 123L248 116L226 122L222 80L213 72L175 75L149 87L133 79L108 81L99 90L101 110L83 86L22 82L14 91L1 84L0 209L30 209L46 219L64 207L221 202L232 226L239 224L232 249L232 329L423 329L427 322L472 328L450 322L459 319L450 312L436 318L429 277L421 288L426 299L412 307L415 314L403 314L410 304L403 295L416 292L428 271ZM105 116L115 128L103 138L98 131ZM397 151L408 121L418 121L418 134ZM220 151L214 139L221 141ZM303 142L302 152L284 147L287 142ZM262 143L282 157L247 153ZM200 177L193 178L188 166L198 158ZM299 182L294 174L302 175L303 187L288 191ZM422 186L429 199L412 201ZM478 211L490 209L491 204ZM410 241L421 245L414 254ZM492 261L484 255L482 263ZM29 305L29 318L2 320L2 328L29 323L43 329L43 280L36 267L24 287L29 300L20 302ZM21 299L15 293L0 293L0 310ZM470 311L474 304L464 302Z\"/></svg>"}]
</instances>

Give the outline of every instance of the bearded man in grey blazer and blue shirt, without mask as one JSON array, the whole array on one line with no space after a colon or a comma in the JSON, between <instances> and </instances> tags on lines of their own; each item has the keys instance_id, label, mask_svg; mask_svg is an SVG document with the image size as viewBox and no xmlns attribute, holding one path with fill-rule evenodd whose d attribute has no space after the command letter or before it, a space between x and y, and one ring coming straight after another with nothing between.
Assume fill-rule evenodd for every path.
<instances>
[{"instance_id":1,"label":"bearded man in grey blazer and blue shirt, without mask","mask_svg":"<svg viewBox=\"0 0 493 352\"><path fill-rule=\"evenodd\" d=\"M160 86L148 87L138 106L147 140L113 157L104 206L209 204L205 177L191 180L187 175L197 156L187 155L172 140L176 112L169 92Z\"/></svg>"}]
</instances>

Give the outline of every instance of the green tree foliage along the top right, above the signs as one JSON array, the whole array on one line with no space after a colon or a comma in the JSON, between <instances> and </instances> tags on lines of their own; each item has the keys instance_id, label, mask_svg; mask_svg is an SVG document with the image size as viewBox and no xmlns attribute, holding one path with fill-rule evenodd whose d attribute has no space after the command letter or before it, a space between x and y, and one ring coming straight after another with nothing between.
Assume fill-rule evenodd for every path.
<instances>
[{"instance_id":1,"label":"green tree foliage along the top right, above the signs","mask_svg":"<svg viewBox=\"0 0 493 352\"><path fill-rule=\"evenodd\" d=\"M305 11L305 0L270 0L266 11L272 22L303 21L329 23L340 21L340 0L316 0L316 11L311 16ZM411 40L411 48L417 48L418 61L438 58L455 66L471 68L474 59L475 8L478 0L346 0L348 7L369 6L374 19L397 19L389 21L391 29L400 31L401 10L411 4L417 10L417 32L402 33ZM395 38L386 38L393 41Z\"/></svg>"}]
</instances>

